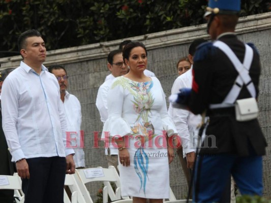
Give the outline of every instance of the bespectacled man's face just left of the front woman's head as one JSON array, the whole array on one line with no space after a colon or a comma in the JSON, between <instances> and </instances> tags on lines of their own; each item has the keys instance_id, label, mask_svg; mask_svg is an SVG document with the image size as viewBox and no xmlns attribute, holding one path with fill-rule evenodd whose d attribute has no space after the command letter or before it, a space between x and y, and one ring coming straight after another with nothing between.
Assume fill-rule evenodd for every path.
<instances>
[{"instance_id":1,"label":"bespectacled man's face just left of the front woman's head","mask_svg":"<svg viewBox=\"0 0 271 203\"><path fill-rule=\"evenodd\" d=\"M124 76L128 73L128 67L124 64L122 53L114 55L113 64L108 63L107 66L115 78Z\"/></svg>"}]
</instances>

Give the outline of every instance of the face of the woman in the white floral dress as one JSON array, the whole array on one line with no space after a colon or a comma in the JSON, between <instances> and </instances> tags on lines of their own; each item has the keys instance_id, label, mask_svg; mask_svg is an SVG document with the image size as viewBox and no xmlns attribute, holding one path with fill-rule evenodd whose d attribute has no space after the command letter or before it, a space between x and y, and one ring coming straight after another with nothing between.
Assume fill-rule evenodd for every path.
<instances>
[{"instance_id":1,"label":"face of the woman in the white floral dress","mask_svg":"<svg viewBox=\"0 0 271 203\"><path fill-rule=\"evenodd\" d=\"M142 47L135 47L131 50L129 60L125 59L132 72L143 72L147 67L146 52Z\"/></svg>"}]
</instances>

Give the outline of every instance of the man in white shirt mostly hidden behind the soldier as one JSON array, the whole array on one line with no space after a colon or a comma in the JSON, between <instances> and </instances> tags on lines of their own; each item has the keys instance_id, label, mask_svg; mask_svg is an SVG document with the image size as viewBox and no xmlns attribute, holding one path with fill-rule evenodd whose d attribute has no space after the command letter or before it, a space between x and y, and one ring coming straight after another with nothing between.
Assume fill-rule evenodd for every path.
<instances>
[{"instance_id":1,"label":"man in white shirt mostly hidden behind the soldier","mask_svg":"<svg viewBox=\"0 0 271 203\"><path fill-rule=\"evenodd\" d=\"M189 46L188 58L192 64L192 67L186 73L176 78L171 89L171 94L178 93L180 88L192 87L193 55L196 52L196 47L204 42L207 41L203 39L194 40ZM197 146L196 138L198 136L198 130L196 129L196 126L201 122L201 117L196 116L186 110L175 109L171 104L169 105L168 113L172 117L179 136L182 138L182 148L178 149L177 152L187 179L187 183L190 184L190 169L192 169L194 165L195 151Z\"/></svg>"}]
</instances>

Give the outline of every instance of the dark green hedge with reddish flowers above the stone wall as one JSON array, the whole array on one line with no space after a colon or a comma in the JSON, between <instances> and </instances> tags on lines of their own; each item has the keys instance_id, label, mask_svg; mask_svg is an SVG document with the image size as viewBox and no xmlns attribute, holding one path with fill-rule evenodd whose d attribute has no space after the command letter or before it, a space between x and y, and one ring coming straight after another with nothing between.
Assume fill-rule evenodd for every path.
<instances>
[{"instance_id":1,"label":"dark green hedge with reddish flowers above the stone wall","mask_svg":"<svg viewBox=\"0 0 271 203\"><path fill-rule=\"evenodd\" d=\"M47 50L123 39L204 23L207 0L0 0L0 57L38 29ZM242 1L241 16L271 11L270 0Z\"/></svg>"}]
</instances>

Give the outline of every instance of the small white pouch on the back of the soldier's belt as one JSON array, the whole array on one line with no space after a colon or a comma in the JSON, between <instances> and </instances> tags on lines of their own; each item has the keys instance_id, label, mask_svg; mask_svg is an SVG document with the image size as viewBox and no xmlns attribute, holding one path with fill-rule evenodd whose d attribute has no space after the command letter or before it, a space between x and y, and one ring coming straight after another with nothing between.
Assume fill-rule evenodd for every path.
<instances>
[{"instance_id":1,"label":"small white pouch on the back of the soldier's belt","mask_svg":"<svg viewBox=\"0 0 271 203\"><path fill-rule=\"evenodd\" d=\"M238 99L235 102L235 114L237 121L249 121L258 116L257 101L254 97Z\"/></svg>"}]
</instances>

